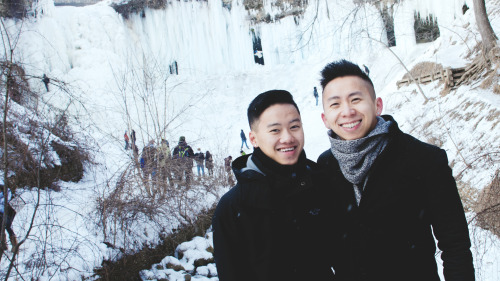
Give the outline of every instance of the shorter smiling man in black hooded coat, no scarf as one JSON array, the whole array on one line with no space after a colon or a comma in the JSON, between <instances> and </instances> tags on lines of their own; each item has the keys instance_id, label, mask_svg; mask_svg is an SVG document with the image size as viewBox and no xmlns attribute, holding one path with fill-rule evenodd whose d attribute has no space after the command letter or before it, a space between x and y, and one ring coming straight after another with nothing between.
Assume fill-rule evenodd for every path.
<instances>
[{"instance_id":1,"label":"shorter smiling man in black hooded coat, no scarf","mask_svg":"<svg viewBox=\"0 0 500 281\"><path fill-rule=\"evenodd\" d=\"M260 94L248 107L248 121L254 153L233 162L238 183L212 221L219 280L334 280L327 254L335 219L326 216L334 198L303 151L291 94Z\"/></svg>"}]
</instances>

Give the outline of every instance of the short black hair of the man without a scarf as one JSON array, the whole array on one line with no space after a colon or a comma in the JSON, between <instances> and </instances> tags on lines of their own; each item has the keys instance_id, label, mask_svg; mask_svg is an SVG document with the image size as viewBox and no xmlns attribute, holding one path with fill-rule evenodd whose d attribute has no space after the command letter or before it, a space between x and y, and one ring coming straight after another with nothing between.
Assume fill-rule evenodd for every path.
<instances>
[{"instance_id":1,"label":"short black hair of the man without a scarf","mask_svg":"<svg viewBox=\"0 0 500 281\"><path fill-rule=\"evenodd\" d=\"M262 112L275 104L291 104L297 109L297 112L300 115L299 107L293 100L290 92L285 90L267 91L255 97L248 106L247 116L250 129L252 129L255 121L259 120Z\"/></svg>"}]
</instances>

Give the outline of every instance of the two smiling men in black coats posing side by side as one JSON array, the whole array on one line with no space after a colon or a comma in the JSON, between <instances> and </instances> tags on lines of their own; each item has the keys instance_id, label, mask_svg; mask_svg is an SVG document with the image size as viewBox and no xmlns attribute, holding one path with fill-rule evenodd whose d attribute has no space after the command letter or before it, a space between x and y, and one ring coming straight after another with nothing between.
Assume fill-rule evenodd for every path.
<instances>
[{"instance_id":1,"label":"two smiling men in black coats posing side by side","mask_svg":"<svg viewBox=\"0 0 500 281\"><path fill-rule=\"evenodd\" d=\"M437 245L447 281L475 280L446 152L382 115L367 67L329 63L320 83L330 146L317 163L289 92L248 106L254 150L226 165L237 183L212 220L218 279L438 281Z\"/></svg>"}]
</instances>

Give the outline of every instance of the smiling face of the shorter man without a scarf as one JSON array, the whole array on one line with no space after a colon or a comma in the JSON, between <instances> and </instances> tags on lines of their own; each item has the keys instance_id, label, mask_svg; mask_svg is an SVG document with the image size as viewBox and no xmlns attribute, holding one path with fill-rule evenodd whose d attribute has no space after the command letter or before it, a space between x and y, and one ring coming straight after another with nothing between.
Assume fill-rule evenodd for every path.
<instances>
[{"instance_id":1,"label":"smiling face of the shorter man without a scarf","mask_svg":"<svg viewBox=\"0 0 500 281\"><path fill-rule=\"evenodd\" d=\"M304 147L300 114L291 104L268 107L252 125L250 142L281 165L297 163Z\"/></svg>"}]
</instances>

